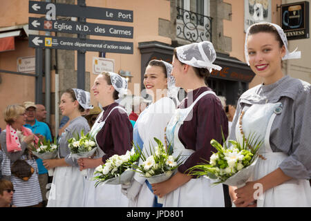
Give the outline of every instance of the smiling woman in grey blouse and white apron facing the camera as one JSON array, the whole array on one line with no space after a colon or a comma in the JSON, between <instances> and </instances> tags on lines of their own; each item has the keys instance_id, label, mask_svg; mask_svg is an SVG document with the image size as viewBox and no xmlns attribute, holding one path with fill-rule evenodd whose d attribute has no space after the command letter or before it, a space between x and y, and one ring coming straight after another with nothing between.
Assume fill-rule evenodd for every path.
<instances>
[{"instance_id":1,"label":"smiling woman in grey blouse and white apron facing the camera","mask_svg":"<svg viewBox=\"0 0 311 221\"><path fill-rule=\"evenodd\" d=\"M238 100L229 140L242 142L256 133L264 144L252 180L230 195L236 206L311 206L311 86L305 81L284 76L282 59L299 58L289 52L288 41L274 23L256 23L245 39L245 58L263 84L247 90ZM243 114L243 119L238 119ZM261 186L257 197L254 184Z\"/></svg>"}]
</instances>

